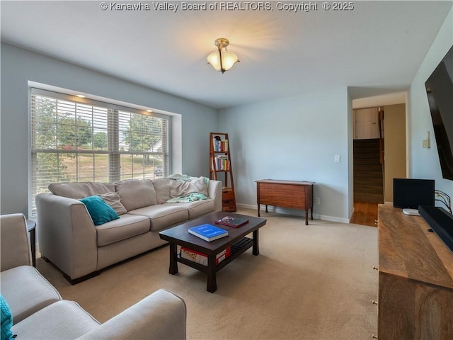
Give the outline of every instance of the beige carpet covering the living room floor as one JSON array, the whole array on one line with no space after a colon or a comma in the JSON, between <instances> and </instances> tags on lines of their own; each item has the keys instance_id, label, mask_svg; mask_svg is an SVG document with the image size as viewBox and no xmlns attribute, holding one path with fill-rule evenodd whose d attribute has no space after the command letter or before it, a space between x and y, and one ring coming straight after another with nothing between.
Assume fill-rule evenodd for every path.
<instances>
[{"instance_id":1,"label":"beige carpet covering the living room floor","mask_svg":"<svg viewBox=\"0 0 453 340\"><path fill-rule=\"evenodd\" d=\"M168 246L78 285L42 259L37 266L100 322L166 288L187 302L188 339L370 339L377 332L377 228L262 217L260 255L250 249L219 271L213 294L193 268L179 263L179 273L168 274Z\"/></svg>"}]
</instances>

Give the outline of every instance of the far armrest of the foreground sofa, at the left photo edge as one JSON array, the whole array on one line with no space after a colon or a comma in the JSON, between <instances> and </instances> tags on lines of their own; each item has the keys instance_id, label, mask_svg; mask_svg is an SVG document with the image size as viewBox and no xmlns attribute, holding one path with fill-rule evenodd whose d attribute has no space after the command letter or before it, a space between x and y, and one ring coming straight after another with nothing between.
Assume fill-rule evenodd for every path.
<instances>
[{"instance_id":1,"label":"far armrest of the foreground sofa, at the left photo edge","mask_svg":"<svg viewBox=\"0 0 453 340\"><path fill-rule=\"evenodd\" d=\"M0 269L31 266L30 238L23 214L0 216Z\"/></svg>"}]
</instances>

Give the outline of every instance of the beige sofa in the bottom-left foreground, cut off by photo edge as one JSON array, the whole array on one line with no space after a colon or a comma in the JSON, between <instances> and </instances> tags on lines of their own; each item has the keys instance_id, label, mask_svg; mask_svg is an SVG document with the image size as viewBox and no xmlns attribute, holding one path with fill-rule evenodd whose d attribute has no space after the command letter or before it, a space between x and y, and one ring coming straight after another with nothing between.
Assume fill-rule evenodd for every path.
<instances>
[{"instance_id":1,"label":"beige sofa in the bottom-left foreground, cut off by photo edge","mask_svg":"<svg viewBox=\"0 0 453 340\"><path fill-rule=\"evenodd\" d=\"M62 300L31 266L22 214L1 216L0 232L2 339L186 338L187 307L178 295L157 290L100 324L76 302Z\"/></svg>"}]
</instances>

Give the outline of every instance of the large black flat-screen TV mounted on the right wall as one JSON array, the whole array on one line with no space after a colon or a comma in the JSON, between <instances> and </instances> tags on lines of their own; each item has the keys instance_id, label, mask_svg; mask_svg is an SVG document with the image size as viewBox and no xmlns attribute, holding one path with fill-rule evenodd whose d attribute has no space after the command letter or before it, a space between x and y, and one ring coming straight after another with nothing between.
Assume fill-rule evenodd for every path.
<instances>
[{"instance_id":1,"label":"large black flat-screen TV mounted on the right wall","mask_svg":"<svg viewBox=\"0 0 453 340\"><path fill-rule=\"evenodd\" d=\"M440 169L453 180L453 46L425 82Z\"/></svg>"}]
</instances>

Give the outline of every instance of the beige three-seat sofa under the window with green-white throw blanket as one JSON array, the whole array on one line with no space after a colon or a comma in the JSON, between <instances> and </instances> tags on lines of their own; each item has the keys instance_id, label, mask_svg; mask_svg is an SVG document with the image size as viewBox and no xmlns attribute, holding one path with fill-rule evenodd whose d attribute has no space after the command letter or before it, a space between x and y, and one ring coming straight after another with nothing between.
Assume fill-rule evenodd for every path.
<instances>
[{"instance_id":1,"label":"beige three-seat sofa under the window with green-white throw blanket","mask_svg":"<svg viewBox=\"0 0 453 340\"><path fill-rule=\"evenodd\" d=\"M161 230L222 210L222 182L175 178L51 184L51 193L36 196L41 256L69 282L78 283L98 275L102 268L165 244L159 237ZM206 200L190 201L191 195L203 190ZM87 196L101 196L120 218L95 225L80 201Z\"/></svg>"}]
</instances>

